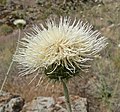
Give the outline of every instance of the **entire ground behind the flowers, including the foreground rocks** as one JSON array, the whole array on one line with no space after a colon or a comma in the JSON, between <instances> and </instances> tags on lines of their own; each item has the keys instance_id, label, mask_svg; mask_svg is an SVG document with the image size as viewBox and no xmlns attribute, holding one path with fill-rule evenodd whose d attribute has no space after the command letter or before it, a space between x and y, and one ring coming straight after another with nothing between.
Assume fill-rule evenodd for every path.
<instances>
[{"instance_id":1,"label":"entire ground behind the flowers, including the foreground rocks","mask_svg":"<svg viewBox=\"0 0 120 112\"><path fill-rule=\"evenodd\" d=\"M22 18L27 22L21 32L22 37L31 25L43 23L48 18L77 17L100 30L108 38L109 45L101 54L102 59L98 57L100 60L95 61L92 70L83 74L83 79L75 78L70 82L73 112L110 112L108 108L112 108L112 112L120 112L120 88L116 86L116 82L120 82L120 50L117 47L120 44L119 0L2 1L6 2L0 0L0 85L15 51L18 29L13 25L14 20ZM54 91L48 88L44 92L46 85L42 85L36 90L37 79L33 85L28 85L31 77L20 79L17 75L14 65L4 88L9 92L0 93L0 112L67 112L60 87Z\"/></svg>"}]
</instances>

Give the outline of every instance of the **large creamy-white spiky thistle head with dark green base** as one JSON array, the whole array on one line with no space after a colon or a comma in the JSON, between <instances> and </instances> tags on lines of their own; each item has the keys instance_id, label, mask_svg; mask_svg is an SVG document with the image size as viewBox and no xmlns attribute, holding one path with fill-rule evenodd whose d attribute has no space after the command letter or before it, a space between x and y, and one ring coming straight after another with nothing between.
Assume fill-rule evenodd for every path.
<instances>
[{"instance_id":1,"label":"large creamy-white spiky thistle head with dark green base","mask_svg":"<svg viewBox=\"0 0 120 112\"><path fill-rule=\"evenodd\" d=\"M21 74L45 68L50 79L69 79L87 69L87 62L107 44L98 31L80 20L61 17L58 23L51 19L40 26L25 34L14 55Z\"/></svg>"}]
</instances>

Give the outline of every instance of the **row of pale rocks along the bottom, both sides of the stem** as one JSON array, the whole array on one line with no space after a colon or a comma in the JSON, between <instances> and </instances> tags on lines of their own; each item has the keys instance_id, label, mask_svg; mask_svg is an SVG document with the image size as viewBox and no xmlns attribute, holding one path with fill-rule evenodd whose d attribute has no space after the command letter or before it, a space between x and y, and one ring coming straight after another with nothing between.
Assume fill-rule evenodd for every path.
<instances>
[{"instance_id":1,"label":"row of pale rocks along the bottom, both sides of the stem","mask_svg":"<svg viewBox=\"0 0 120 112\"><path fill-rule=\"evenodd\" d=\"M87 99L79 96L71 96L73 112L87 112ZM0 112L67 112L65 99L58 97L55 101L52 97L39 96L31 102L19 95L2 92L0 94Z\"/></svg>"}]
</instances>

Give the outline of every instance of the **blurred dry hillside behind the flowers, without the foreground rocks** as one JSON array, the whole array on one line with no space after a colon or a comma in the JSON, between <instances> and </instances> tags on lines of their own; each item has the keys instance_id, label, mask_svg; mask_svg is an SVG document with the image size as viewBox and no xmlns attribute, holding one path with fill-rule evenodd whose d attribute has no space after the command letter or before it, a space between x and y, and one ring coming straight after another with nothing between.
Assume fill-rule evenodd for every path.
<instances>
[{"instance_id":1,"label":"blurred dry hillside behind the flowers, without the foreground rocks","mask_svg":"<svg viewBox=\"0 0 120 112\"><path fill-rule=\"evenodd\" d=\"M12 61L18 38L13 21L24 19L27 24L21 31L29 31L33 24L49 18L70 16L93 25L108 40L108 46L96 57L88 73L69 82L72 95L87 98L89 112L120 112L120 0L0 0L0 85ZM13 64L4 91L17 93L26 102L37 96L63 95L61 85L46 83L36 87L39 76L29 85L35 74L18 77Z\"/></svg>"}]
</instances>

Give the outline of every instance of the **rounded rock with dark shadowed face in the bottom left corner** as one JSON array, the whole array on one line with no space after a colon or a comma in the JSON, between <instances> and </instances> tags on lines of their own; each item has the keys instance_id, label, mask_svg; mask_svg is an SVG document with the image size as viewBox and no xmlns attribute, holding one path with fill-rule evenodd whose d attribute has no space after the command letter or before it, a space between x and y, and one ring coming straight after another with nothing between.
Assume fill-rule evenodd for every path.
<instances>
[{"instance_id":1,"label":"rounded rock with dark shadowed face in the bottom left corner","mask_svg":"<svg viewBox=\"0 0 120 112\"><path fill-rule=\"evenodd\" d=\"M0 112L20 112L24 103L24 99L19 95L0 93Z\"/></svg>"}]
</instances>

